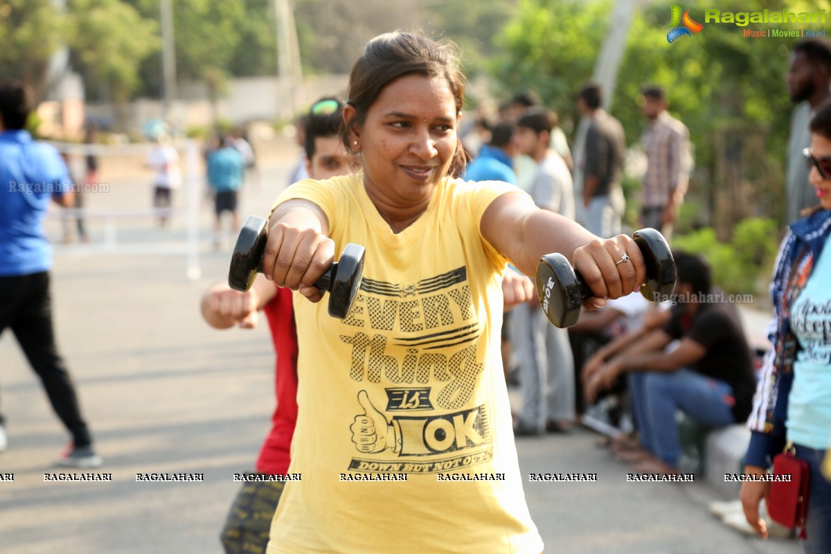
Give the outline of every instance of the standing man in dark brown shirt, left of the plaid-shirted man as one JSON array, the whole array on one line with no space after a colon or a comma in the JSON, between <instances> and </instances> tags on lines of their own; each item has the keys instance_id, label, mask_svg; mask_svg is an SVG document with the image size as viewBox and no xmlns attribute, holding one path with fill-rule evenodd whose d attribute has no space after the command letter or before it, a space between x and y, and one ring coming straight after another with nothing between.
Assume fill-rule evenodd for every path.
<instances>
[{"instance_id":1,"label":"standing man in dark brown shirt, left of the plaid-shirted man","mask_svg":"<svg viewBox=\"0 0 831 554\"><path fill-rule=\"evenodd\" d=\"M577 105L589 120L582 168L584 223L598 237L613 237L621 233L626 208L621 189L626 155L623 127L602 109L602 90L596 83L583 86Z\"/></svg>"}]
</instances>

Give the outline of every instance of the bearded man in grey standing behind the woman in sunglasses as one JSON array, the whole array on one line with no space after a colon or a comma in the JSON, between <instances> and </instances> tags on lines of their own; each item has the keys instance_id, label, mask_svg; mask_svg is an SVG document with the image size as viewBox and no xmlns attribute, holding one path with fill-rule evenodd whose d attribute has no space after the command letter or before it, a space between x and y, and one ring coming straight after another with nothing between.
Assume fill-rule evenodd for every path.
<instances>
[{"instance_id":1,"label":"bearded man in grey standing behind the woman in sunglasses","mask_svg":"<svg viewBox=\"0 0 831 554\"><path fill-rule=\"evenodd\" d=\"M808 38L798 42L788 70L790 100L796 104L790 119L788 164L785 181L788 223L802 217L802 210L819 203L808 183L808 168L802 151L811 145L808 124L816 107L831 97L831 42Z\"/></svg>"}]
</instances>

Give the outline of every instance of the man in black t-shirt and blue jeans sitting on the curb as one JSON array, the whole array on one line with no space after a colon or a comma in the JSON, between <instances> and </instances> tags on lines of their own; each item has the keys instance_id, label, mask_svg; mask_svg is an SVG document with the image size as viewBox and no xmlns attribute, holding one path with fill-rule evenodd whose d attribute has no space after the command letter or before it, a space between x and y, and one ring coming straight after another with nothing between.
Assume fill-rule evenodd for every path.
<instances>
[{"instance_id":1,"label":"man in black t-shirt and blue jeans sitting on the curb","mask_svg":"<svg viewBox=\"0 0 831 554\"><path fill-rule=\"evenodd\" d=\"M681 445L676 410L701 424L743 423L753 403L755 377L738 312L712 302L711 269L701 258L675 253L676 305L669 321L612 356L588 378L586 395L630 375L629 391L641 434L642 460L634 471L677 473ZM673 349L667 349L678 341ZM634 460L633 460L634 461Z\"/></svg>"}]
</instances>

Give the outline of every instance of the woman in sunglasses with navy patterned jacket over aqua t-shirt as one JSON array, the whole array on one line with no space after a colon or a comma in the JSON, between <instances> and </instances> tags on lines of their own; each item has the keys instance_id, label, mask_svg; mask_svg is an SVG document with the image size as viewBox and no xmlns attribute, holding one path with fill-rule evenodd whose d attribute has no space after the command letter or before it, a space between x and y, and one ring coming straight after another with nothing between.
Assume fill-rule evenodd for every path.
<instances>
[{"instance_id":1,"label":"woman in sunglasses with navy patterned jacket over aqua t-shirt","mask_svg":"<svg viewBox=\"0 0 831 554\"><path fill-rule=\"evenodd\" d=\"M810 123L811 147L804 151L809 181L820 204L791 223L779 249L771 297L773 348L765 356L745 456L745 473L763 475L771 458L787 447L809 463L810 493L804 526L805 552L831 552L831 483L820 470L831 432L831 102ZM740 498L745 517L763 537L759 504L770 483L745 482Z\"/></svg>"}]
</instances>

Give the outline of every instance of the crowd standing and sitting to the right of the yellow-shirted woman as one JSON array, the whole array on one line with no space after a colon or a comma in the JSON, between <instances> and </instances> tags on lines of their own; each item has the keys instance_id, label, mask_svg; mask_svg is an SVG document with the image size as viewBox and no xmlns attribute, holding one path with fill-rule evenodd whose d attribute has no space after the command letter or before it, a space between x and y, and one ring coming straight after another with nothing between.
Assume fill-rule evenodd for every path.
<instances>
[{"instance_id":1,"label":"crowd standing and sitting to the right of the yellow-shirted woman","mask_svg":"<svg viewBox=\"0 0 831 554\"><path fill-rule=\"evenodd\" d=\"M685 463L687 469L700 468L701 460L682 459L676 414L703 429L745 424L750 416L754 432L746 471L766 473L784 440L794 444L795 455L810 464L813 500L802 524L808 530L806 552L828 552L831 488L819 466L831 437L831 360L827 333L823 338L812 330L829 324L828 311L818 307L827 292L819 282L827 282L829 275L820 256L831 227L831 158L823 158L831 154L826 148L831 136L829 77L829 42L799 42L787 75L795 104L785 186L790 225L777 258L772 296L778 324L771 326L776 331L770 332L773 346L765 363L753 360L735 306L697 301L714 297L706 259L676 251L676 294L688 299L676 306L650 306L637 294L610 301L597 311L584 311L578 325L564 333L567 341L553 340L561 330L548 324L536 302L506 314L504 339L510 345L504 348L504 363L514 370L506 375L509 381L519 380L522 398L514 434L562 433L582 421L616 436L608 444L633 470L677 473ZM557 116L540 108L533 94L519 93L505 102L494 122L479 115L472 131L484 138L467 141L478 147L478 156L466 178L516 184L541 208L570 218L576 213L600 237L630 227L622 225L622 215L634 203L637 225L656 228L671 241L691 174L686 125L670 115L666 90L643 88L639 100L647 126L640 145L646 170L637 198L624 199L625 134L603 110L602 94L600 86L589 83L576 97L588 130L574 149L563 143ZM572 150L578 152L573 165ZM810 321L796 320L797 313ZM762 370L755 374L759 365ZM565 368L570 375L564 375ZM812 386L818 388L809 392ZM769 488L757 483L742 488L743 531L767 535L759 506Z\"/></svg>"}]
</instances>

